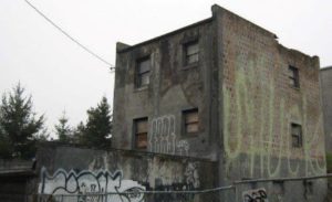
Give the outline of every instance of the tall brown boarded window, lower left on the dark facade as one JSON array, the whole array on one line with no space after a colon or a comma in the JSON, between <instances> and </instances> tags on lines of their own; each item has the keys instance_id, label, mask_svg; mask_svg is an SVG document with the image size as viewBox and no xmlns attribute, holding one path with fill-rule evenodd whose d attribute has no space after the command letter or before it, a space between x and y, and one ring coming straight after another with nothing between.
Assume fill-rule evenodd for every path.
<instances>
[{"instance_id":1,"label":"tall brown boarded window, lower left on the dark facade","mask_svg":"<svg viewBox=\"0 0 332 202\"><path fill-rule=\"evenodd\" d=\"M135 148L147 148L147 117L134 120Z\"/></svg>"}]
</instances>

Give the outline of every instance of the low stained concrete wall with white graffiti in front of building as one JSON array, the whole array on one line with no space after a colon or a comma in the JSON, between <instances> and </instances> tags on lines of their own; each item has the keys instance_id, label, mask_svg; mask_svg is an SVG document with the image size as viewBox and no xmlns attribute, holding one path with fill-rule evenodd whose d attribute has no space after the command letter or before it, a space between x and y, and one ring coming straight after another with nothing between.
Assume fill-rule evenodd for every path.
<instances>
[{"instance_id":1,"label":"low stained concrete wall with white graffiti in front of building","mask_svg":"<svg viewBox=\"0 0 332 202\"><path fill-rule=\"evenodd\" d=\"M35 193L77 194L143 190L200 190L216 187L216 163L125 150L92 150L46 145L38 151ZM133 194L139 201L143 194ZM176 201L177 195L153 195ZM172 199L173 200L172 200ZM203 200L199 195L195 200ZM113 201L121 201L113 195ZM166 200L166 201L167 201Z\"/></svg>"}]
</instances>

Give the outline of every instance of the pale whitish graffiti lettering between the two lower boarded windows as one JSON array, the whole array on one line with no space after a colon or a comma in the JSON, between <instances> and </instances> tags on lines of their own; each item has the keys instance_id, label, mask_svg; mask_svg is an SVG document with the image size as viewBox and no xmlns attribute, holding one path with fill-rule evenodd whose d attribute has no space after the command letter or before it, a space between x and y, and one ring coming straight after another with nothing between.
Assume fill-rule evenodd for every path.
<instances>
[{"instance_id":1,"label":"pale whitish graffiti lettering between the two lower boarded windows","mask_svg":"<svg viewBox=\"0 0 332 202\"><path fill-rule=\"evenodd\" d=\"M176 120L174 115L154 118L151 125L149 148L153 152L188 156L189 143L179 140L175 134Z\"/></svg>"}]
</instances>

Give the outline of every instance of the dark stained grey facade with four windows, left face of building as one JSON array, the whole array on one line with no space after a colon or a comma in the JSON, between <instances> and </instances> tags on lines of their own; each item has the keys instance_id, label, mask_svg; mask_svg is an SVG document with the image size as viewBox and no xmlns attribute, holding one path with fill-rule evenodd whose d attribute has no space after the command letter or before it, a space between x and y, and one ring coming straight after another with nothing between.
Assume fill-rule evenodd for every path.
<instances>
[{"instance_id":1,"label":"dark stained grey facade with four windows, left face of building","mask_svg":"<svg viewBox=\"0 0 332 202\"><path fill-rule=\"evenodd\" d=\"M148 117L148 147L152 152L215 158L216 130L211 129L211 68L214 24L210 19L157 40L118 51L114 92L113 147L133 149L133 119ZM197 39L199 62L184 66L184 43ZM123 49L123 45L118 44ZM137 59L151 56L151 83L135 88ZM186 136L181 111L198 108L199 132ZM154 127L156 126L156 127Z\"/></svg>"}]
</instances>

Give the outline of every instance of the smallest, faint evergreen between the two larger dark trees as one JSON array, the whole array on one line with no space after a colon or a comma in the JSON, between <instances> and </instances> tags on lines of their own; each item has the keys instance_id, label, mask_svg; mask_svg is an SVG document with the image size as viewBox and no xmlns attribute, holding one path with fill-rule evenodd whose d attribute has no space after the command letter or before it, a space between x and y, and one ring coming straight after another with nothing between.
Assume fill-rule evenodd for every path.
<instances>
[{"instance_id":1,"label":"smallest, faint evergreen between the two larger dark trees","mask_svg":"<svg viewBox=\"0 0 332 202\"><path fill-rule=\"evenodd\" d=\"M68 125L69 119L63 111L62 116L59 118L59 124L54 126L55 134L58 135L59 141L61 142L72 142L72 129Z\"/></svg>"}]
</instances>

